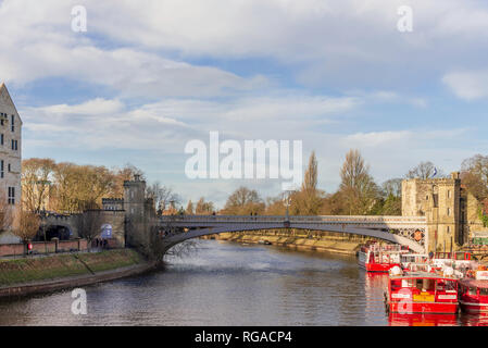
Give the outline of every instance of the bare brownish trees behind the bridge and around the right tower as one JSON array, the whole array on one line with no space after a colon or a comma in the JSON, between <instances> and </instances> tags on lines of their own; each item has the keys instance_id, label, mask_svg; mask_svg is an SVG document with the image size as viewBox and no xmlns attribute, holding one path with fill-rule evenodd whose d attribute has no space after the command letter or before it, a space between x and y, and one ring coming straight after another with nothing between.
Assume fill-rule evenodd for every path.
<instances>
[{"instance_id":1,"label":"bare brownish trees behind the bridge and around the right tower","mask_svg":"<svg viewBox=\"0 0 488 348\"><path fill-rule=\"evenodd\" d=\"M446 178L448 175L430 161L421 162L403 177L391 178L378 185L371 175L370 165L359 150L351 149L340 169L341 183L337 191L327 194L317 187L318 165L312 152L299 190L263 199L254 189L236 189L218 214L284 215L285 199L289 198L290 215L401 215L402 181L411 178ZM480 219L488 225L488 156L477 154L463 161L461 178L464 187L480 202ZM202 206L204 199L199 203ZM213 206L211 202L207 202ZM187 214L208 214L208 210L193 211L189 201Z\"/></svg>"}]
</instances>

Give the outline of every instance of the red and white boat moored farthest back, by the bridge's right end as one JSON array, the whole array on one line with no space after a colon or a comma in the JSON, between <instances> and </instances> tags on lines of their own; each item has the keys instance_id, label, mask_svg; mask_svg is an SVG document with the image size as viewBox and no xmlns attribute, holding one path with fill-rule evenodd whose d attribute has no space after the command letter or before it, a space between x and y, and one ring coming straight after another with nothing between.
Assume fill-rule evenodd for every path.
<instances>
[{"instance_id":1,"label":"red and white boat moored farthest back, by the bridge's right end","mask_svg":"<svg viewBox=\"0 0 488 348\"><path fill-rule=\"evenodd\" d=\"M401 254L409 253L409 248L397 245L372 244L362 246L358 253L358 263L367 272L388 273L400 266Z\"/></svg>"}]
</instances>

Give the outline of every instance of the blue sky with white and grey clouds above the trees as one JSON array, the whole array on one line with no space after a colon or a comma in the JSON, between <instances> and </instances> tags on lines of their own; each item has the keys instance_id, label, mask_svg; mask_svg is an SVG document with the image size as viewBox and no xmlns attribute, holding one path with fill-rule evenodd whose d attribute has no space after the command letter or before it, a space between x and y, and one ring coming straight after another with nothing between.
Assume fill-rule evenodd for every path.
<instances>
[{"instance_id":1,"label":"blue sky with white and grey clouds above the trees","mask_svg":"<svg viewBox=\"0 0 488 348\"><path fill-rule=\"evenodd\" d=\"M24 158L130 162L184 201L279 194L279 179L188 179L185 145L210 130L302 140L326 191L350 148L378 183L488 152L486 0L3 0L0 23Z\"/></svg>"}]
</instances>

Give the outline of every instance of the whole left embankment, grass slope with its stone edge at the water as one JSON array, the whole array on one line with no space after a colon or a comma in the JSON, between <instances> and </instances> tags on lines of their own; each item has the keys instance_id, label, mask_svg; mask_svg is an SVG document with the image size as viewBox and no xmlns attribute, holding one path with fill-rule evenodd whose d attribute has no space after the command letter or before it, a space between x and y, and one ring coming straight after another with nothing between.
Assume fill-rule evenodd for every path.
<instances>
[{"instance_id":1,"label":"whole left embankment, grass slope with its stone edge at the water","mask_svg":"<svg viewBox=\"0 0 488 348\"><path fill-rule=\"evenodd\" d=\"M112 281L152 268L153 264L130 249L0 260L0 297Z\"/></svg>"}]
</instances>

